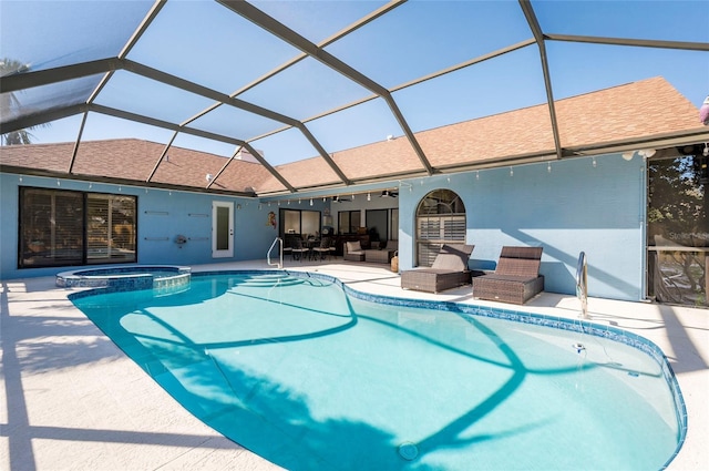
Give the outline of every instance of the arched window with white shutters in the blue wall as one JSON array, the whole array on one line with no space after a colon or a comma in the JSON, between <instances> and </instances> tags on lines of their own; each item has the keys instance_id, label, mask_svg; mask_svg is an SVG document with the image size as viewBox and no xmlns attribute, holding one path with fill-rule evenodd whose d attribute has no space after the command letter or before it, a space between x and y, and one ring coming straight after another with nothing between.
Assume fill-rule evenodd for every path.
<instances>
[{"instance_id":1,"label":"arched window with white shutters in the blue wall","mask_svg":"<svg viewBox=\"0 0 709 471\"><path fill-rule=\"evenodd\" d=\"M445 243L465 243L465 206L450 190L434 190L417 208L417 263L430 267Z\"/></svg>"}]
</instances>

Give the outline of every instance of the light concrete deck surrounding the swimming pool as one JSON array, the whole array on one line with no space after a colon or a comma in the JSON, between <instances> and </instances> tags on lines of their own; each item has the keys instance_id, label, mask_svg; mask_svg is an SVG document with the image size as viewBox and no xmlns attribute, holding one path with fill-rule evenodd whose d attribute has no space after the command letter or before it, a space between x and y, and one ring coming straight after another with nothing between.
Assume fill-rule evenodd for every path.
<instances>
[{"instance_id":1,"label":"light concrete deck surrounding the swimming pool","mask_svg":"<svg viewBox=\"0 0 709 471\"><path fill-rule=\"evenodd\" d=\"M250 268L269 267L192 267ZM287 260L286 268L331 275L364 293L516 308L473 299L470 286L402 290L388 265ZM54 277L0 281L0 469L280 469L183 409L68 300L80 289L59 288ZM520 310L577 318L579 306L573 296L544 293ZM709 309L590 298L588 313L665 351L688 411L687 438L669 469L709 469Z\"/></svg>"}]
</instances>

